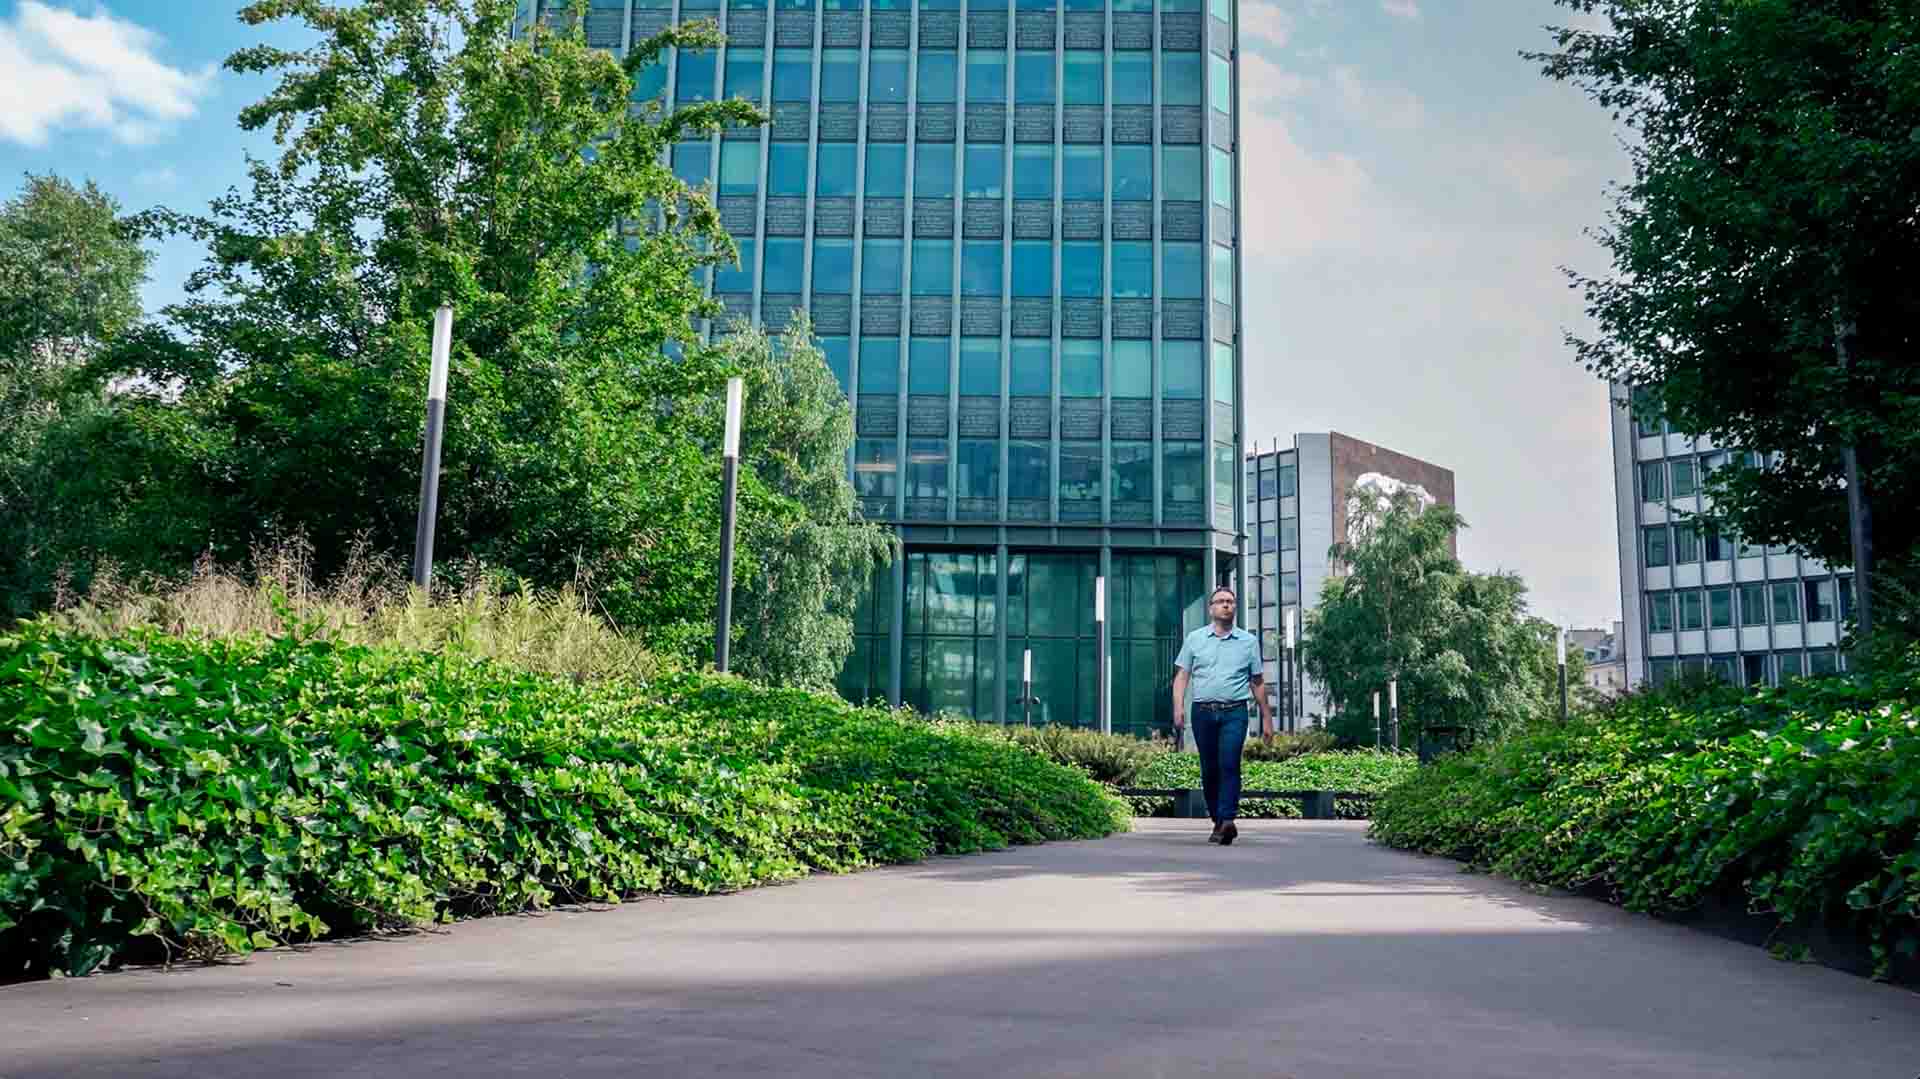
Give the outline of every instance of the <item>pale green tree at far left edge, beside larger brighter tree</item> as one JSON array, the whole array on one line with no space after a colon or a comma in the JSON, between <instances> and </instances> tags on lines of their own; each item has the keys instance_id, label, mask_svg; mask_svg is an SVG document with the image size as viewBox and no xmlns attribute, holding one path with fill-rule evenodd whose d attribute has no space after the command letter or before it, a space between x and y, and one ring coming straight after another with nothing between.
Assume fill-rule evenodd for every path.
<instances>
[{"instance_id":1,"label":"pale green tree at far left edge, beside larger brighter tree","mask_svg":"<svg viewBox=\"0 0 1920 1079\"><path fill-rule=\"evenodd\" d=\"M29 175L0 205L0 616L52 587L75 432L109 407L102 357L142 315L148 263L92 180Z\"/></svg>"}]
</instances>

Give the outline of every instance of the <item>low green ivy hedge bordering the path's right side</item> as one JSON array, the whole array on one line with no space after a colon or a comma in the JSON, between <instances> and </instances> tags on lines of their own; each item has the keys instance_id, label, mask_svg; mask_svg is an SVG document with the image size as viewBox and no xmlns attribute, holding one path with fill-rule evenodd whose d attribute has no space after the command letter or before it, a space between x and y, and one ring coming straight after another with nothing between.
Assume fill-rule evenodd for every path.
<instances>
[{"instance_id":1,"label":"low green ivy hedge bordering the path's right side","mask_svg":"<svg viewBox=\"0 0 1920 1079\"><path fill-rule=\"evenodd\" d=\"M1920 952L1920 655L1870 682L1644 693L1448 755L1375 806L1375 839L1634 910L1745 902Z\"/></svg>"}]
</instances>

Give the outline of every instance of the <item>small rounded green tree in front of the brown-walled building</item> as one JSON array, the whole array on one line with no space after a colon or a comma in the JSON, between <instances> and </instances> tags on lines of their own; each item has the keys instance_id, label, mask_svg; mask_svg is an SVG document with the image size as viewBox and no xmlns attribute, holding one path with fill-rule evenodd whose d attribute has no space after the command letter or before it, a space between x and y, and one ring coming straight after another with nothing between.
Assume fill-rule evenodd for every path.
<instances>
[{"instance_id":1,"label":"small rounded green tree in front of the brown-walled building","mask_svg":"<svg viewBox=\"0 0 1920 1079\"><path fill-rule=\"evenodd\" d=\"M1300 662L1327 687L1338 716L1329 730L1373 741L1373 693L1400 685L1400 735L1411 747L1427 728L1475 737L1511 731L1557 708L1551 624L1526 614L1513 574L1471 574L1450 551L1465 520L1415 492L1356 486L1350 540L1329 557L1340 574L1308 611Z\"/></svg>"}]
</instances>

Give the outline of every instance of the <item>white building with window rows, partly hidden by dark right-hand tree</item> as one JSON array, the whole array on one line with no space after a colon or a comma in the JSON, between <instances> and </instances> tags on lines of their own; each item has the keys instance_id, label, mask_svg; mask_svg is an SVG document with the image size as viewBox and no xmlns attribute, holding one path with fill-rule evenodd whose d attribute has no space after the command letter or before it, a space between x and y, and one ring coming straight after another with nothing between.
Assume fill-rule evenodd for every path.
<instances>
[{"instance_id":1,"label":"white building with window rows, partly hidden by dark right-hand tree","mask_svg":"<svg viewBox=\"0 0 1920 1079\"><path fill-rule=\"evenodd\" d=\"M1839 670L1853 576L1693 524L1701 486L1738 449L1630 415L1613 388L1613 492L1628 685L1711 672L1736 685ZM1755 463L1759 457L1755 455Z\"/></svg>"}]
</instances>

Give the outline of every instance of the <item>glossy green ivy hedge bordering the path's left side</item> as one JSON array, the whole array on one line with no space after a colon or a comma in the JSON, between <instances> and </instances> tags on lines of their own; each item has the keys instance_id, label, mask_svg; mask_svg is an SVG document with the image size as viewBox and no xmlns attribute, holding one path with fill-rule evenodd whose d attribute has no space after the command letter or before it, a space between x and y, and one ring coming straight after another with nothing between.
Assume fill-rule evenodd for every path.
<instances>
[{"instance_id":1,"label":"glossy green ivy hedge bordering the path's left side","mask_svg":"<svg viewBox=\"0 0 1920 1079\"><path fill-rule=\"evenodd\" d=\"M970 730L724 676L0 635L0 956L21 973L707 893L1125 827Z\"/></svg>"}]
</instances>

